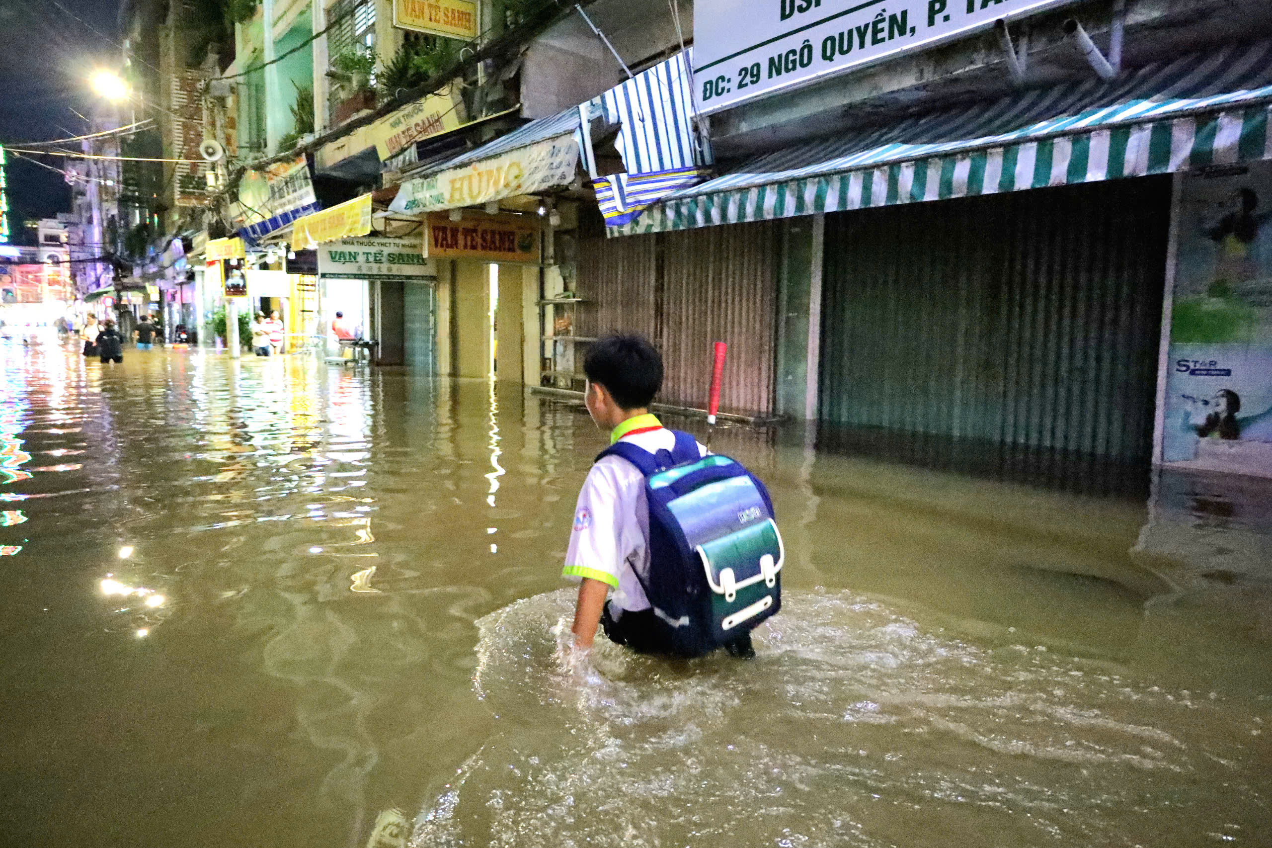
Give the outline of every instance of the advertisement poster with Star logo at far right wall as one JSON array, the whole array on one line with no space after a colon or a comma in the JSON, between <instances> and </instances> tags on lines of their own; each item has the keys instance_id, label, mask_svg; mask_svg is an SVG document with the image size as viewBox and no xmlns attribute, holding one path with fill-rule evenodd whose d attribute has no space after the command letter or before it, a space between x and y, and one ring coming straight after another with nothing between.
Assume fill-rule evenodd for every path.
<instances>
[{"instance_id":1,"label":"advertisement poster with Star logo at far right wall","mask_svg":"<svg viewBox=\"0 0 1272 848\"><path fill-rule=\"evenodd\" d=\"M1161 461L1272 476L1272 163L1187 174L1178 238Z\"/></svg>"}]
</instances>

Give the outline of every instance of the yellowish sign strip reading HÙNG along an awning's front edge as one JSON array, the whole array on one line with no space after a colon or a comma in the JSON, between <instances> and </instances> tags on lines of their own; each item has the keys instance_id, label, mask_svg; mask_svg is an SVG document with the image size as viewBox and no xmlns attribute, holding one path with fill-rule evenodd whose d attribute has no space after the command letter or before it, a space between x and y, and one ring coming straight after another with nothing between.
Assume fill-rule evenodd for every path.
<instances>
[{"instance_id":1,"label":"yellowish sign strip reading H\u00d9NG along an awning's front edge","mask_svg":"<svg viewBox=\"0 0 1272 848\"><path fill-rule=\"evenodd\" d=\"M402 183L392 211L418 214L546 191L574 181L579 145L572 135L529 144L463 168Z\"/></svg>"}]
</instances>

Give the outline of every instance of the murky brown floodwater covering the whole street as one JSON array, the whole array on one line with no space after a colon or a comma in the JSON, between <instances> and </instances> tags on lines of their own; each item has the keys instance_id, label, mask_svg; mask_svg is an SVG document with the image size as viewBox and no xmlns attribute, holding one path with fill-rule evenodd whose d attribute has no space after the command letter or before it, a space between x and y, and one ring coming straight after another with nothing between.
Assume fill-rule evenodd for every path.
<instances>
[{"instance_id":1,"label":"murky brown floodwater covering the whole street","mask_svg":"<svg viewBox=\"0 0 1272 848\"><path fill-rule=\"evenodd\" d=\"M726 428L786 535L759 657L572 668L579 410L0 362L5 844L1272 844L1266 483L1081 497Z\"/></svg>"}]
</instances>

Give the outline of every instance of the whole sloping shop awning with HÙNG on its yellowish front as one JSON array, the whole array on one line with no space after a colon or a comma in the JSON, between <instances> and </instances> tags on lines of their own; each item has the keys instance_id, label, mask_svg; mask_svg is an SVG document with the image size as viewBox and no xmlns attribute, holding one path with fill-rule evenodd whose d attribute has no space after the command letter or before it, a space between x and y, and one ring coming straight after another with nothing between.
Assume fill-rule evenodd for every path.
<instances>
[{"instance_id":1,"label":"whole sloping shop awning with H\u00d9NG on its yellowish front","mask_svg":"<svg viewBox=\"0 0 1272 848\"><path fill-rule=\"evenodd\" d=\"M579 110L570 107L402 183L389 210L418 215L569 186L579 166Z\"/></svg>"}]
</instances>

